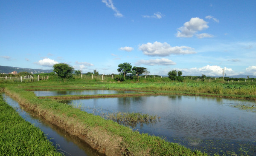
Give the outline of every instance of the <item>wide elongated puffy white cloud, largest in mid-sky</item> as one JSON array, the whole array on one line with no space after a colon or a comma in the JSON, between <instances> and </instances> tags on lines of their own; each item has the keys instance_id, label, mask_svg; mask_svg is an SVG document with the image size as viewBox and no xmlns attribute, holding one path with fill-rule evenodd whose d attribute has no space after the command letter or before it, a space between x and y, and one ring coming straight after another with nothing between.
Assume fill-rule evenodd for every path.
<instances>
[{"instance_id":1,"label":"wide elongated puffy white cloud, largest in mid-sky","mask_svg":"<svg viewBox=\"0 0 256 156\"><path fill-rule=\"evenodd\" d=\"M165 57L170 54L195 54L194 48L187 46L175 46L172 47L168 43L154 42L140 45L139 49L143 51L143 54L148 56L160 56Z\"/></svg>"}]
</instances>

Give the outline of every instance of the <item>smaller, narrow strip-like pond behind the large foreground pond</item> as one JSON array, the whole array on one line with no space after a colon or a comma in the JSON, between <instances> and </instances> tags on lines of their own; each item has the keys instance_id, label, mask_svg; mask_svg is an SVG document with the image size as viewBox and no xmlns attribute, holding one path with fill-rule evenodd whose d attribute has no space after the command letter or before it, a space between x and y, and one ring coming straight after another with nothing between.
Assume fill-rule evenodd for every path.
<instances>
[{"instance_id":1,"label":"smaller, narrow strip-like pond behind the large foreground pond","mask_svg":"<svg viewBox=\"0 0 256 156\"><path fill-rule=\"evenodd\" d=\"M125 94L135 91L116 90L76 90L76 91L34 91L35 96L60 96L60 95L97 95L97 94Z\"/></svg>"}]
</instances>

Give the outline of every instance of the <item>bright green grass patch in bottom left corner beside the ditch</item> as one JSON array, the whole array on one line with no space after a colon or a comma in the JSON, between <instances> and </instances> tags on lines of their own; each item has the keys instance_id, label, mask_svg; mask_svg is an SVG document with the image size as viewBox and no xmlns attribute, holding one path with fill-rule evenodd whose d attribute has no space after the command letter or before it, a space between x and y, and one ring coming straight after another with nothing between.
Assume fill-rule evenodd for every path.
<instances>
[{"instance_id":1,"label":"bright green grass patch in bottom left corner beside the ditch","mask_svg":"<svg viewBox=\"0 0 256 156\"><path fill-rule=\"evenodd\" d=\"M44 133L26 122L0 94L1 156L62 156Z\"/></svg>"}]
</instances>

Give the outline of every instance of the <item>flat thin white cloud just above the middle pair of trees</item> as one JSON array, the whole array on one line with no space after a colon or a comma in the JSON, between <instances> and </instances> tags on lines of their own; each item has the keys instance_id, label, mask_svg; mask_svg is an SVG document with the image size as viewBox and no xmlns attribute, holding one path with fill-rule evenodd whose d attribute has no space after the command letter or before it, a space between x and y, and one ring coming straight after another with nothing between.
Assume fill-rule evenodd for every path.
<instances>
[{"instance_id":1,"label":"flat thin white cloud just above the middle pair of trees","mask_svg":"<svg viewBox=\"0 0 256 156\"><path fill-rule=\"evenodd\" d=\"M161 59L151 59L151 60L139 60L136 62L136 65L176 65L175 62L172 60L166 59L166 58L161 58Z\"/></svg>"}]
</instances>

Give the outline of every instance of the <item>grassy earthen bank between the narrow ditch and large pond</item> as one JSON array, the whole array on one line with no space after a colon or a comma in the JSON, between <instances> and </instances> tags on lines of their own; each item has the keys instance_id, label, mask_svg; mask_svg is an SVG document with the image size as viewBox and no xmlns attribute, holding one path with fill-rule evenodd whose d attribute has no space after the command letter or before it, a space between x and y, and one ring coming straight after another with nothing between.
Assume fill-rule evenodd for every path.
<instances>
[{"instance_id":1,"label":"grassy earthen bank between the narrow ditch and large pond","mask_svg":"<svg viewBox=\"0 0 256 156\"><path fill-rule=\"evenodd\" d=\"M79 136L106 155L207 156L201 151L192 151L181 145L166 142L157 136L140 134L132 131L131 128L86 113L55 99L38 98L32 91L25 91L23 88L8 86L5 92L15 98L20 105L65 129L68 133Z\"/></svg>"}]
</instances>

